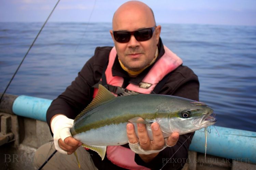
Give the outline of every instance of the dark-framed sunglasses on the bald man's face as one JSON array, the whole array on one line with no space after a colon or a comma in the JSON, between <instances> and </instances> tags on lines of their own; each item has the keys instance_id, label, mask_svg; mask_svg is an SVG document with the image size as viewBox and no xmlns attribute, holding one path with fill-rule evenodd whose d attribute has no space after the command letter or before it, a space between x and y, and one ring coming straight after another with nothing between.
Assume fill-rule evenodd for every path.
<instances>
[{"instance_id":1,"label":"dark-framed sunglasses on the bald man's face","mask_svg":"<svg viewBox=\"0 0 256 170\"><path fill-rule=\"evenodd\" d=\"M114 39L119 43L129 42L132 35L134 35L134 37L137 41L147 41L152 37L155 27L144 28L144 29L140 29L140 30L132 31L132 32L113 31L113 35L114 35Z\"/></svg>"}]
</instances>

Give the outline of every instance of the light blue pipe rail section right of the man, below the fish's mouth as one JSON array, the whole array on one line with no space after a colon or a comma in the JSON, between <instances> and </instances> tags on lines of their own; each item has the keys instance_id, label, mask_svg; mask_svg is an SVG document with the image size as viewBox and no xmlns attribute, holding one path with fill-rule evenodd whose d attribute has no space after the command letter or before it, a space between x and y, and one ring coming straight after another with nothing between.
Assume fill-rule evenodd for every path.
<instances>
[{"instance_id":1,"label":"light blue pipe rail section right of the man, below the fish's mouth","mask_svg":"<svg viewBox=\"0 0 256 170\"><path fill-rule=\"evenodd\" d=\"M218 133L212 128L211 133L207 134L206 154L256 164L256 132L220 126L215 128ZM204 132L196 131L189 150L204 153L204 146Z\"/></svg>"}]
</instances>

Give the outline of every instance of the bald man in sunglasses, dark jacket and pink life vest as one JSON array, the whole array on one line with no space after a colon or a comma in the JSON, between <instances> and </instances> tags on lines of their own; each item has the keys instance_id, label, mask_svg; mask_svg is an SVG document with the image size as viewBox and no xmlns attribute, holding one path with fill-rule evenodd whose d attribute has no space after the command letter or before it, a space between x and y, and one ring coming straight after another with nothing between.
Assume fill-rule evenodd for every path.
<instances>
[{"instance_id":1,"label":"bald man in sunglasses, dark jacket and pink life vest","mask_svg":"<svg viewBox=\"0 0 256 170\"><path fill-rule=\"evenodd\" d=\"M156 26L151 8L139 1L124 3L114 13L112 28L110 34L115 48L96 48L94 56L84 65L75 81L48 109L47 122L54 134L55 148L60 153L72 154L82 145L71 137L69 129L72 119L97 93L99 83L107 85L110 91L117 94L126 88L142 93L174 95L198 101L197 76L188 67L182 66L181 59L163 46L160 38L161 26ZM166 61L162 60L163 58L166 58ZM165 68L167 66L168 68ZM161 78L156 76L156 73L160 73ZM132 123L127 122L126 128L130 147L138 143L142 150L156 152L133 153L134 156L127 156L132 151L128 149L129 151L123 153L121 150L129 148L128 145L120 146L121 148L108 147L110 151L107 150L107 156L101 160L94 151L89 150L98 169L160 169L171 157L186 160L193 133L180 136L173 133L164 140L158 123L152 123L153 141L150 141L144 124L137 124L138 136ZM169 147L162 150L164 146ZM86 153L82 147L78 150L79 153ZM86 169L95 168L92 163L88 164L90 165ZM169 161L163 169L180 169L183 164ZM83 164L81 167L83 168Z\"/></svg>"}]
</instances>

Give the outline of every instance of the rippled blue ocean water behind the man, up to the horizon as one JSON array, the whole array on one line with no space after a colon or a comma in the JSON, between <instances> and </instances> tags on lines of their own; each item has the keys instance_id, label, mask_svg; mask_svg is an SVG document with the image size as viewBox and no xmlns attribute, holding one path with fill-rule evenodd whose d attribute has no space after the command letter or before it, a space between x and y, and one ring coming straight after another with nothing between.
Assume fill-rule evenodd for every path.
<instances>
[{"instance_id":1,"label":"rippled blue ocean water behind the man, up to the horizon","mask_svg":"<svg viewBox=\"0 0 256 170\"><path fill-rule=\"evenodd\" d=\"M43 23L0 23L0 92ZM256 131L256 27L161 24L163 43L199 77L216 125ZM56 98L97 46L113 46L111 23L49 22L6 93Z\"/></svg>"}]
</instances>

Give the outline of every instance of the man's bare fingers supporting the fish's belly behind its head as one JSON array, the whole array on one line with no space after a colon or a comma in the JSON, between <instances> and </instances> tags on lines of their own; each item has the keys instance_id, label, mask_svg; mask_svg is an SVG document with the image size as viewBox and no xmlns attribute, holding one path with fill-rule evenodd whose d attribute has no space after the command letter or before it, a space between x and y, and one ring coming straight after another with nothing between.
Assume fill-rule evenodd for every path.
<instances>
[{"instance_id":1,"label":"man's bare fingers supporting the fish's belly behind its head","mask_svg":"<svg viewBox=\"0 0 256 170\"><path fill-rule=\"evenodd\" d=\"M136 136L134 126L132 123L128 123L126 126L126 131L127 131L127 137L129 139L129 142L134 144L139 141L140 147L145 150L145 151L154 151L154 150L161 150L164 147L164 138L162 131L158 125L158 123L152 123L151 124L151 130L153 133L153 140L150 141L150 138L148 137L147 129L145 124L142 123L137 123L137 128L138 128L138 138ZM166 144L168 146L174 146L176 145L177 141L179 139L179 134L174 132L172 133L166 140ZM152 153L149 155L142 155L139 154L140 158L144 162L149 162L152 160L154 157L158 155L159 152L157 153Z\"/></svg>"}]
</instances>

